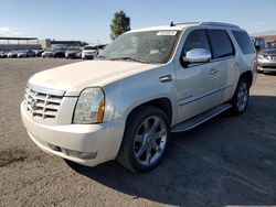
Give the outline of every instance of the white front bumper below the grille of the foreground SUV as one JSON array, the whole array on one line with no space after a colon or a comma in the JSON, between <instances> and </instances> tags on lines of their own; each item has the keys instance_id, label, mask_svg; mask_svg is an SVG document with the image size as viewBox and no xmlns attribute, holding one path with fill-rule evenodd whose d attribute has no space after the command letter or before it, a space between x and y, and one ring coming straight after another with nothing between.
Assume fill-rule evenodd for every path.
<instances>
[{"instance_id":1,"label":"white front bumper below the grille of the foreground SUV","mask_svg":"<svg viewBox=\"0 0 276 207\"><path fill-rule=\"evenodd\" d=\"M87 166L116 157L125 127L123 121L45 126L32 120L23 102L21 117L30 138L41 150Z\"/></svg>"}]
</instances>

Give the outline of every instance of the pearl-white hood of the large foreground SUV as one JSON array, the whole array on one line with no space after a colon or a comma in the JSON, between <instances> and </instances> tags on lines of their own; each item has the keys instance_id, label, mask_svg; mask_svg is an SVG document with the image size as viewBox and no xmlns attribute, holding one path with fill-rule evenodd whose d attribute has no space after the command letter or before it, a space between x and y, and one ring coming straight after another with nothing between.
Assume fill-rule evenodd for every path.
<instances>
[{"instance_id":1,"label":"pearl-white hood of the large foreground SUV","mask_svg":"<svg viewBox=\"0 0 276 207\"><path fill-rule=\"evenodd\" d=\"M86 87L105 86L127 76L148 70L157 65L119 61L85 61L34 74L29 83L65 90L66 96L78 96Z\"/></svg>"}]
</instances>

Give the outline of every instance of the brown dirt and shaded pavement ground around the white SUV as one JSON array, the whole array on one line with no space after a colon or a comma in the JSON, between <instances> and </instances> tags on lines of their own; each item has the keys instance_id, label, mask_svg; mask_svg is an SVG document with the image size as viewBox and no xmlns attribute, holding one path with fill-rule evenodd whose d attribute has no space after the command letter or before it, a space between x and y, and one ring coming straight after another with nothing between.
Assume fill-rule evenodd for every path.
<instances>
[{"instance_id":1,"label":"brown dirt and shaded pavement ground around the white SUV","mask_svg":"<svg viewBox=\"0 0 276 207\"><path fill-rule=\"evenodd\" d=\"M276 205L276 76L259 75L247 111L173 135L155 171L77 167L39 150L19 105L35 72L67 59L0 59L0 206Z\"/></svg>"}]
</instances>

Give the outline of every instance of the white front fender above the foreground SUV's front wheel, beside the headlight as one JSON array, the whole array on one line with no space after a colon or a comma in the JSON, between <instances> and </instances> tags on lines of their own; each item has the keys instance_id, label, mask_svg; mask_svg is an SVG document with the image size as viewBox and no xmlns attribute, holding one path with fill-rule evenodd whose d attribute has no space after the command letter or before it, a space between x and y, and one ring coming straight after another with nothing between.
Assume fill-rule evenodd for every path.
<instances>
[{"instance_id":1,"label":"white front fender above the foreground SUV's front wheel, beside the headlight","mask_svg":"<svg viewBox=\"0 0 276 207\"><path fill-rule=\"evenodd\" d=\"M159 77L170 74L172 81L161 83ZM163 65L149 69L104 87L106 94L105 120L126 121L128 115L138 106L158 98L168 98L172 106L172 120L177 120L173 66Z\"/></svg>"}]
</instances>

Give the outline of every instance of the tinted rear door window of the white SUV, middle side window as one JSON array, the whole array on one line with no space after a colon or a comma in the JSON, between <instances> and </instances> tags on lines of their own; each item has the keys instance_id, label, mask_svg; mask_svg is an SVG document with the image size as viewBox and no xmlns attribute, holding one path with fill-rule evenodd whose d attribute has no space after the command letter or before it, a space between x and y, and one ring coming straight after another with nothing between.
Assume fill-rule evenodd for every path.
<instances>
[{"instance_id":1,"label":"tinted rear door window of the white SUV, middle side window","mask_svg":"<svg viewBox=\"0 0 276 207\"><path fill-rule=\"evenodd\" d=\"M208 30L212 45L213 58L227 57L235 54L233 44L225 30Z\"/></svg>"}]
</instances>

